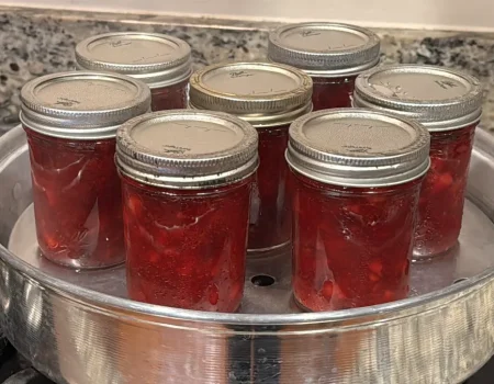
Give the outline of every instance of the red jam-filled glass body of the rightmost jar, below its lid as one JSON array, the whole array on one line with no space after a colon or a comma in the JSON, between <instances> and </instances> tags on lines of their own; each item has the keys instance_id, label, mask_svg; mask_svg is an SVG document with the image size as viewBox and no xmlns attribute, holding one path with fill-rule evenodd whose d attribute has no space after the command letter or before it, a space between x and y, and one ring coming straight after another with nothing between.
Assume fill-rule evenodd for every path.
<instances>
[{"instance_id":1,"label":"red jam-filled glass body of the rightmost jar, below its lid","mask_svg":"<svg viewBox=\"0 0 494 384\"><path fill-rule=\"evenodd\" d=\"M475 126L430 133L430 169L418 203L416 259L444 253L458 241Z\"/></svg>"}]
</instances>

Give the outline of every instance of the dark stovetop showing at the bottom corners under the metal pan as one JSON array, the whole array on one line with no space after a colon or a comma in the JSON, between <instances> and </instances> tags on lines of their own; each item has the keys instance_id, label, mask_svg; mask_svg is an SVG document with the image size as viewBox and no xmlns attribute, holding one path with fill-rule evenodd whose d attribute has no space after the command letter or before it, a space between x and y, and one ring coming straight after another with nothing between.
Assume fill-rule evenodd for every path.
<instances>
[{"instance_id":1,"label":"dark stovetop showing at the bottom corners under the metal pan","mask_svg":"<svg viewBox=\"0 0 494 384\"><path fill-rule=\"evenodd\" d=\"M55 384L32 368L10 345L0 332L0 383L3 384ZM494 358L491 359L478 373L463 384L492 384L494 383ZM94 383L96 384L96 383ZM158 384L158 383L157 383ZM269 384L269 383L267 383ZM413 383L409 383L413 384Z\"/></svg>"}]
</instances>

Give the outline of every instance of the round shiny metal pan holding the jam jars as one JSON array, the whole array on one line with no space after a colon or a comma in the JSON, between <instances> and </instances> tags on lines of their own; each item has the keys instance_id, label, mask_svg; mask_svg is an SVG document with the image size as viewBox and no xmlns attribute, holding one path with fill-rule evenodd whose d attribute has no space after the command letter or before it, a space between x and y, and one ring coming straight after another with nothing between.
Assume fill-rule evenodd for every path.
<instances>
[{"instance_id":1,"label":"round shiny metal pan holding the jam jars","mask_svg":"<svg viewBox=\"0 0 494 384\"><path fill-rule=\"evenodd\" d=\"M242 314L213 314L127 301L122 269L70 272L44 263L29 236L15 240L32 218L26 211L19 219L31 187L24 137L14 129L0 139L0 241L11 237L18 247L14 256L0 246L1 325L16 349L63 384L460 383L494 351L492 148L479 133L460 246L413 266L415 296L296 313L281 255L268 264L250 261ZM9 214L13 194L2 191L15 183L19 200ZM258 274L276 282L255 285ZM469 279L452 284L460 278Z\"/></svg>"}]
</instances>

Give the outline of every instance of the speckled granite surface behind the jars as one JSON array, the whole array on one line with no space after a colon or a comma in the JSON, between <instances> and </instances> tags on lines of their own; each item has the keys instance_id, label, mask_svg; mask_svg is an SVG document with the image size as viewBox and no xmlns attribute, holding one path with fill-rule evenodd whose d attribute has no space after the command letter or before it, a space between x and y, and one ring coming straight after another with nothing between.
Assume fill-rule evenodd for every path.
<instances>
[{"instance_id":1,"label":"speckled granite surface behind the jars","mask_svg":"<svg viewBox=\"0 0 494 384\"><path fill-rule=\"evenodd\" d=\"M266 55L274 24L0 8L0 132L19 122L19 91L40 75L74 69L74 47L110 31L168 33L193 48L197 67ZM482 126L494 132L494 34L378 30L384 63L463 69L485 84Z\"/></svg>"}]
</instances>

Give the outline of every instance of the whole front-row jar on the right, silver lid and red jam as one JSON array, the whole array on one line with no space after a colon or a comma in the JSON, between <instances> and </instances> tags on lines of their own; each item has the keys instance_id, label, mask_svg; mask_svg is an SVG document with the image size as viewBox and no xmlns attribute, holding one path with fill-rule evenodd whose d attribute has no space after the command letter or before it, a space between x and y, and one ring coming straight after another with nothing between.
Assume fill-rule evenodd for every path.
<instances>
[{"instance_id":1,"label":"whole front-row jar on the right, silver lid and red jam","mask_svg":"<svg viewBox=\"0 0 494 384\"><path fill-rule=\"evenodd\" d=\"M407 296L429 134L369 110L310 113L290 127L293 292L306 310Z\"/></svg>"}]
</instances>

